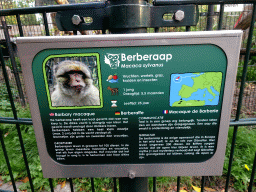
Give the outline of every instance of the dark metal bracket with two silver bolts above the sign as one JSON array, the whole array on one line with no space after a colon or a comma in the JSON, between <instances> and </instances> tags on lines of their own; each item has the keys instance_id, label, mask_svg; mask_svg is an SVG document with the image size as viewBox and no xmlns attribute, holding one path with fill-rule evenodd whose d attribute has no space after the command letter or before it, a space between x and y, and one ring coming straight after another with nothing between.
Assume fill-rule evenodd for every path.
<instances>
[{"instance_id":1,"label":"dark metal bracket with two silver bolts above the sign","mask_svg":"<svg viewBox=\"0 0 256 192\"><path fill-rule=\"evenodd\" d=\"M86 3L76 10L59 11L57 27L61 31L180 27L195 26L199 18L196 5L154 6L146 1L120 3L123 4L112 1ZM165 19L167 14L169 18Z\"/></svg>"}]
</instances>

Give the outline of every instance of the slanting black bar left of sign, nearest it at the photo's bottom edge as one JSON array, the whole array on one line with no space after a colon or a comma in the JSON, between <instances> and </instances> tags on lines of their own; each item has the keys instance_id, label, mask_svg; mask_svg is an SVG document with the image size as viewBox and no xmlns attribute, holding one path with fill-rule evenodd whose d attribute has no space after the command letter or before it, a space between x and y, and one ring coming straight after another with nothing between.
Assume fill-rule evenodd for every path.
<instances>
[{"instance_id":1,"label":"slanting black bar left of sign, nearest it at the photo's bottom edge","mask_svg":"<svg viewBox=\"0 0 256 192\"><path fill-rule=\"evenodd\" d=\"M13 96L12 96L12 92L11 92L11 87L10 87L10 84L9 84L8 75L7 75L6 69L5 69L5 63L4 63L4 59L3 59L2 48L0 48L0 59L1 59L1 64L2 64L2 68L3 68L3 72L4 72L5 84L6 84L7 92L8 92L8 95L9 95L11 107L12 107L13 116L14 116L14 119L17 120L18 119L17 111L16 111L16 108L15 108L15 105L14 105L14 101L13 101ZM26 166L27 174L28 174L31 191L34 192L34 186L33 186L32 178L31 178L30 171L29 171L27 155L26 155L26 151L25 151L25 148L24 148L24 143L23 143L23 140L22 140L22 135L21 135L21 131L20 131L20 125L18 123L16 124L16 129L17 129L18 136L19 136L20 147L21 147L24 163L25 163L25 166Z\"/></svg>"}]
</instances>

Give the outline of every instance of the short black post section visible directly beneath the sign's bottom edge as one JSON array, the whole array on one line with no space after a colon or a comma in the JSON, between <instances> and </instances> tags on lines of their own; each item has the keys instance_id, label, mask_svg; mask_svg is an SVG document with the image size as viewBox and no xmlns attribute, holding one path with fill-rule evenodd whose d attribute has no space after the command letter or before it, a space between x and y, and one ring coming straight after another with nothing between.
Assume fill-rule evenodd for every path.
<instances>
[{"instance_id":1,"label":"short black post section visible directly beneath the sign's bottom edge","mask_svg":"<svg viewBox=\"0 0 256 192\"><path fill-rule=\"evenodd\" d=\"M120 192L148 192L148 178L135 177L130 179L128 177L119 178Z\"/></svg>"}]
</instances>

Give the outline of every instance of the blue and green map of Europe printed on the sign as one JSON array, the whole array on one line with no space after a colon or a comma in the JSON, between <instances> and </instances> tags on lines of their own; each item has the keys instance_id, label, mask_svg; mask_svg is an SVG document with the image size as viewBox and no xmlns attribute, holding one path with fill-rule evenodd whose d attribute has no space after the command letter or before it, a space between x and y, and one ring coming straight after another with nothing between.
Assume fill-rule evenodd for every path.
<instances>
[{"instance_id":1,"label":"blue and green map of Europe printed on the sign","mask_svg":"<svg viewBox=\"0 0 256 192\"><path fill-rule=\"evenodd\" d=\"M221 72L172 74L170 106L218 105L221 81Z\"/></svg>"}]
</instances>

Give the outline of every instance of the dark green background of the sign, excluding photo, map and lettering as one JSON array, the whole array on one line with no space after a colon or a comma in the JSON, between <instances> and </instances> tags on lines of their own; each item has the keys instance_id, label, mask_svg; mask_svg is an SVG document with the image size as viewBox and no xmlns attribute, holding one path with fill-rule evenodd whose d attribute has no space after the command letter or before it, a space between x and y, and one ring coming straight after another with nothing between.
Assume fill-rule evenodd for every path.
<instances>
[{"instance_id":1,"label":"dark green background of the sign, excluding photo, map and lettering","mask_svg":"<svg viewBox=\"0 0 256 192\"><path fill-rule=\"evenodd\" d=\"M43 76L43 62L49 55L61 54L77 54L77 53L99 53L100 55L100 68L102 78L102 91L103 91L103 108L99 109L69 109L69 110L50 110L47 100L45 89L45 82ZM147 63L163 63L164 67L159 68L134 68L124 69L111 69L109 65L104 63L104 56L107 53L126 55L134 55L139 53L144 54L172 54L172 59L166 63L165 61L134 61L134 62L121 62L121 64L147 64ZM223 90L225 85L227 59L225 53L215 45L171 45L171 46L147 46L147 47L111 47L111 48L81 48L81 49L50 49L40 52L33 60L33 76L36 86L36 93L38 97L38 104L40 108L42 124L45 134L45 140L49 155L56 160L54 144L55 141L72 141L73 144L113 144L113 143L129 143L130 156L129 157L81 157L81 158L66 158L65 161L58 161L62 164L118 164L118 163L174 163L174 162L202 162L209 159L212 155L194 155L194 156L157 156L147 157L140 160L138 151L138 134L140 133L155 133L156 136L171 137L171 136L218 136L219 132L219 119L223 98ZM198 73L198 72L222 72L222 86L220 92L220 101L217 106L203 106L203 107L170 107L170 76L173 73ZM109 75L117 74L119 83L111 84L107 82ZM157 82L144 82L144 83L125 83L122 82L123 75L140 75L140 74L164 74L164 78L158 78ZM111 92L107 87L118 87L119 96L111 96ZM155 92L163 91L164 95L153 96L123 96L123 88L134 88L139 92ZM118 107L111 108L110 100L118 100ZM130 101L147 101L150 105L142 106L124 106L124 102ZM218 109L217 114L189 114L189 115L163 115L163 110L193 110L193 109ZM143 116L164 116L164 119L218 119L217 126L194 126L190 130L160 130L160 131L139 131L138 130L138 116L115 116L115 111L144 111ZM129 127L129 138L120 139L106 139L106 138L93 138L93 139L53 139L49 122L49 113L51 112L64 112L64 113L87 113L95 112L94 118L110 118L110 117L128 117L129 124L119 124L120 127ZM140 115L141 116L141 115ZM57 118L57 117L56 117ZM119 126L118 126L119 127ZM114 133L114 132L113 132ZM217 139L215 150L217 146ZM56 160L57 161L57 160Z\"/></svg>"}]
</instances>

